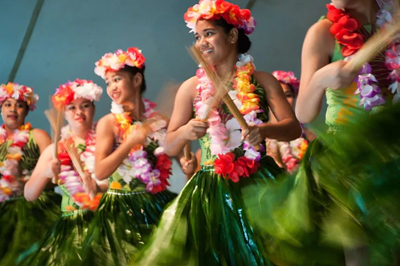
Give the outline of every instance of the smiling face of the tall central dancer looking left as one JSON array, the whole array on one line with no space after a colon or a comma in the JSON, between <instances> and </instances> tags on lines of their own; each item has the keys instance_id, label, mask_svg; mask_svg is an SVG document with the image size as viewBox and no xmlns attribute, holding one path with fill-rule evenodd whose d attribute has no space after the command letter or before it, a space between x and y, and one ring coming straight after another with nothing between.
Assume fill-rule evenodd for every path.
<instances>
[{"instance_id":1,"label":"smiling face of the tall central dancer looking left","mask_svg":"<svg viewBox=\"0 0 400 266\"><path fill-rule=\"evenodd\" d=\"M224 28L216 26L212 20L199 20L196 24L195 45L208 64L219 65L237 50L237 38L233 35L227 34Z\"/></svg>"}]
</instances>

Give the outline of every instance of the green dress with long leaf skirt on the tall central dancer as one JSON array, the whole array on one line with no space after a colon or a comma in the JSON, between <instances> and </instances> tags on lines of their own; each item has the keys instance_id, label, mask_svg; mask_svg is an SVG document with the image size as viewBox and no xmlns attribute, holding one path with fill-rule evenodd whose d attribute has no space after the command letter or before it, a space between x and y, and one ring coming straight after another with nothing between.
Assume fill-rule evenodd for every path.
<instances>
[{"instance_id":1,"label":"green dress with long leaf skirt on the tall central dancer","mask_svg":"<svg viewBox=\"0 0 400 266\"><path fill-rule=\"evenodd\" d=\"M260 103L265 104L264 89L253 78L252 83ZM267 108L261 106L264 112L258 118L262 121L268 120ZM232 118L224 104L218 112L224 123ZM216 157L211 155L208 134L200 139L200 146L201 169L164 211L151 241L132 265L272 265L263 248L269 238L261 238L249 221L242 191L252 184L273 182L282 169L261 152L257 172L234 183L210 165ZM234 153L242 156L242 145Z\"/></svg>"}]
</instances>

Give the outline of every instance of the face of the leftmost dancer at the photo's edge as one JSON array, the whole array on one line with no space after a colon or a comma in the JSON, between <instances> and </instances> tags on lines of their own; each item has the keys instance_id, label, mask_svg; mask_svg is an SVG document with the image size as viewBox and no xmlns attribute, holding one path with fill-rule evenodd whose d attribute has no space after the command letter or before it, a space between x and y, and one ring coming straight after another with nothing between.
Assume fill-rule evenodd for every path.
<instances>
[{"instance_id":1,"label":"face of the leftmost dancer at the photo's edge","mask_svg":"<svg viewBox=\"0 0 400 266\"><path fill-rule=\"evenodd\" d=\"M17 101L13 98L8 98L1 105L1 114L4 124L12 130L24 124L28 112L29 110L26 102Z\"/></svg>"}]
</instances>

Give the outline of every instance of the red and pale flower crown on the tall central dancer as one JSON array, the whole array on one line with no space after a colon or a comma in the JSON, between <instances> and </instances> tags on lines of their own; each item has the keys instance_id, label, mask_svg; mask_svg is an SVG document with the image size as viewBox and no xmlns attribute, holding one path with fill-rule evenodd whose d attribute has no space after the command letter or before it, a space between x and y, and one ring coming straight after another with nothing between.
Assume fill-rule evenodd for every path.
<instances>
[{"instance_id":1,"label":"red and pale flower crown on the tall central dancer","mask_svg":"<svg viewBox=\"0 0 400 266\"><path fill-rule=\"evenodd\" d=\"M240 9L239 6L224 0L200 0L190 7L184 15L186 26L190 32L196 32L196 23L199 19L225 19L235 28L243 29L245 34L251 34L256 26L256 20L248 9Z\"/></svg>"}]
</instances>

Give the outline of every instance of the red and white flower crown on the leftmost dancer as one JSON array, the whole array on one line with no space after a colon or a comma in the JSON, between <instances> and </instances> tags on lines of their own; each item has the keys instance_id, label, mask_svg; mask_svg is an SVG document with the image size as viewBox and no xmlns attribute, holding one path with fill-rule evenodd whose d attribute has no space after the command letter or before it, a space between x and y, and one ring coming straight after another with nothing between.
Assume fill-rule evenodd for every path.
<instances>
[{"instance_id":1,"label":"red and white flower crown on the leftmost dancer","mask_svg":"<svg viewBox=\"0 0 400 266\"><path fill-rule=\"evenodd\" d=\"M33 89L17 83L8 82L0 85L0 105L8 98L24 101L29 106L29 110L36 109L36 102L39 100L37 94L33 94Z\"/></svg>"}]
</instances>

